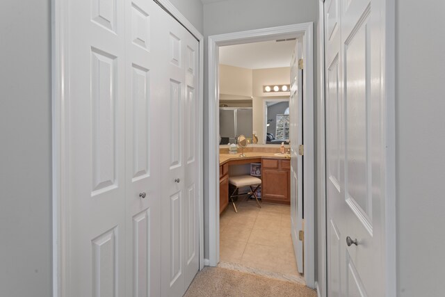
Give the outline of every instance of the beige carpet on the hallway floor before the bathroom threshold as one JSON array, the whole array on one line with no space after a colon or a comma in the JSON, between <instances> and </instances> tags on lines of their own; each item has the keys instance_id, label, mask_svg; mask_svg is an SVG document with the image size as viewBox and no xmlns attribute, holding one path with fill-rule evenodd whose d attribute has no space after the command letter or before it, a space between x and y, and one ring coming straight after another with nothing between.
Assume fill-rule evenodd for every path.
<instances>
[{"instance_id":1,"label":"beige carpet on the hallway floor before the bathroom threshold","mask_svg":"<svg viewBox=\"0 0 445 297\"><path fill-rule=\"evenodd\" d=\"M298 282L267 278L220 267L205 267L197 273L186 297L315 297L316 291Z\"/></svg>"}]
</instances>

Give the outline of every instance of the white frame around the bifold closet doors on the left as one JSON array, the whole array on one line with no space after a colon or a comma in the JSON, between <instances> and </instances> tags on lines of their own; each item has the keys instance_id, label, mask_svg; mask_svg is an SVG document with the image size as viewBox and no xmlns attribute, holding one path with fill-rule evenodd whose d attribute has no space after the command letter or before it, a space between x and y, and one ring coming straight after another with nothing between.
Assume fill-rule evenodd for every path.
<instances>
[{"instance_id":1,"label":"white frame around the bifold closet doors on the left","mask_svg":"<svg viewBox=\"0 0 445 297\"><path fill-rule=\"evenodd\" d=\"M184 26L200 44L200 87L199 87L199 119L198 119L198 170L199 182L197 194L199 201L200 222L200 269L204 268L204 175L203 175L203 90L204 90L204 36L195 26L182 15L169 0L153 0L166 10L177 22ZM51 84L52 84L52 280L53 296L68 296L63 285L65 275L65 259L70 257L67 247L67 133L69 131L67 107L69 106L68 88L70 67L67 52L69 48L69 0L51 0ZM65 253L66 252L66 253Z\"/></svg>"}]
</instances>

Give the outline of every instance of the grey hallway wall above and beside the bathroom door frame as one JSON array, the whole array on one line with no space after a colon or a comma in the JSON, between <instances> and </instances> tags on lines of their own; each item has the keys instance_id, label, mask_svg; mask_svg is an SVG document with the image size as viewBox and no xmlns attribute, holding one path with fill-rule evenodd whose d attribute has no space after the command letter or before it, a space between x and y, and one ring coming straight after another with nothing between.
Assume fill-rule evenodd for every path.
<instances>
[{"instance_id":1,"label":"grey hallway wall above and beside the bathroom door frame","mask_svg":"<svg viewBox=\"0 0 445 297\"><path fill-rule=\"evenodd\" d=\"M277 11L277 13L275 13ZM318 1L307 0L226 0L204 5L204 160L209 158L209 98L207 37L223 33L263 29L304 22L316 22ZM316 54L316 25L314 26L314 58ZM315 62L316 64L316 62ZM316 67L316 65L314 65ZM314 71L314 78L316 71ZM316 86L315 86L316 88ZM316 110L314 102L314 110ZM314 118L314 131L317 131ZM315 138L316 141L316 138ZM316 172L315 172L316 174ZM204 185L209 172L204 168ZM204 188L204 257L209 257L209 188Z\"/></svg>"}]
</instances>

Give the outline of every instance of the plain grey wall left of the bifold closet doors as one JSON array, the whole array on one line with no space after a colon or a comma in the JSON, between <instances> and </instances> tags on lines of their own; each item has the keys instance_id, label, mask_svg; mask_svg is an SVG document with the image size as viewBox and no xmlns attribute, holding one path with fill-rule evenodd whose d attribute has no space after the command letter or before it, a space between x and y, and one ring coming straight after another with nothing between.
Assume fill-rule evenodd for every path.
<instances>
[{"instance_id":1,"label":"plain grey wall left of the bifold closet doors","mask_svg":"<svg viewBox=\"0 0 445 297\"><path fill-rule=\"evenodd\" d=\"M0 1L0 296L51 296L51 0Z\"/></svg>"}]
</instances>

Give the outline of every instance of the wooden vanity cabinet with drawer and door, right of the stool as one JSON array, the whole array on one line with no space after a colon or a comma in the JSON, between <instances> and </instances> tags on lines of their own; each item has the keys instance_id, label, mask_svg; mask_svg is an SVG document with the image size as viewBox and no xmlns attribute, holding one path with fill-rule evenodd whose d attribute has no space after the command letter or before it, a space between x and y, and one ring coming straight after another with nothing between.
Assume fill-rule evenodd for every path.
<instances>
[{"instance_id":1,"label":"wooden vanity cabinet with drawer and door, right of the stool","mask_svg":"<svg viewBox=\"0 0 445 297\"><path fill-rule=\"evenodd\" d=\"M291 204L291 161L261 159L261 201Z\"/></svg>"}]
</instances>

